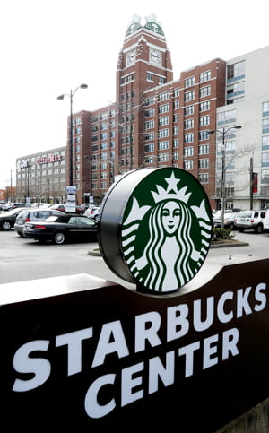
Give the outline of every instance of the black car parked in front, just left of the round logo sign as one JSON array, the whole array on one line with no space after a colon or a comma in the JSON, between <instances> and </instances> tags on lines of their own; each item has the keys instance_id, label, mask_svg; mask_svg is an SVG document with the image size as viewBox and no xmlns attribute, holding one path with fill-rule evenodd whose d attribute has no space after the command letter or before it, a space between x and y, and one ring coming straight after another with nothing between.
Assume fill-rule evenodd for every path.
<instances>
[{"instance_id":1,"label":"black car parked in front, just left of the round logo sign","mask_svg":"<svg viewBox=\"0 0 269 433\"><path fill-rule=\"evenodd\" d=\"M47 220L39 222L26 222L22 230L23 238L36 239L41 242L47 240L55 244L64 244L66 241L96 241L98 223L84 215L65 213L59 216L50 216Z\"/></svg>"}]
</instances>

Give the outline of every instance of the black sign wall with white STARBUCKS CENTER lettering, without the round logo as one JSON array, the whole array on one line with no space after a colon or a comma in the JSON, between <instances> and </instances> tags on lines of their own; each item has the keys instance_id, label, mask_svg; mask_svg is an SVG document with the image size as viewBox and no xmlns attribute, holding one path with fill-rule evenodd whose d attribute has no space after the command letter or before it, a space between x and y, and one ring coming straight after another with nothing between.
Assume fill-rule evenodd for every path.
<instances>
[{"instance_id":1,"label":"black sign wall with white STARBUCKS CENTER lettering, without the round logo","mask_svg":"<svg viewBox=\"0 0 269 433\"><path fill-rule=\"evenodd\" d=\"M10 431L221 428L268 396L268 265L224 266L201 287L194 280L167 295L96 288L91 278L73 291L55 281L54 294L39 299L6 302L2 293L2 423ZM205 264L201 281L206 273ZM48 286L34 283L37 292Z\"/></svg>"}]
</instances>

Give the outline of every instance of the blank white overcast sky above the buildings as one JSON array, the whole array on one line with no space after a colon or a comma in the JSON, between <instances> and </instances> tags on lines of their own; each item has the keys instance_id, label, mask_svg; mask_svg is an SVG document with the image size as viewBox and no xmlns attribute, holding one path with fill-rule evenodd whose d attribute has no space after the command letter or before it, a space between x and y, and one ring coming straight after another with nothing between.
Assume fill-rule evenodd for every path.
<instances>
[{"instance_id":1,"label":"blank white overcast sky above the buildings","mask_svg":"<svg viewBox=\"0 0 269 433\"><path fill-rule=\"evenodd\" d=\"M177 11L178 9L178 11ZM215 57L230 60L269 44L267 0L9 0L0 6L0 188L15 184L15 160L66 143L74 112L115 100L116 67L134 14L154 13L174 71ZM11 176L12 175L12 176Z\"/></svg>"}]
</instances>

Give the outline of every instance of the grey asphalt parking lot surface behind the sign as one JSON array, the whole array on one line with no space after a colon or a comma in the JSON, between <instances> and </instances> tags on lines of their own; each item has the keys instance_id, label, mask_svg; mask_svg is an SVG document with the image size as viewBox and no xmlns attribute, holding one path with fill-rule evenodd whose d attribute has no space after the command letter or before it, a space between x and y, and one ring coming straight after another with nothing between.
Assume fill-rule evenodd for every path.
<instances>
[{"instance_id":1,"label":"grey asphalt parking lot surface behind the sign","mask_svg":"<svg viewBox=\"0 0 269 433\"><path fill-rule=\"evenodd\" d=\"M235 231L235 238L249 245L244 247L211 248L207 261L227 263L236 259L249 260L269 256L269 234ZM60 275L87 273L125 287L133 287L117 277L100 256L89 255L97 243L51 245L20 238L14 230L0 231L0 284L38 280ZM230 264L230 262L229 262Z\"/></svg>"}]
</instances>

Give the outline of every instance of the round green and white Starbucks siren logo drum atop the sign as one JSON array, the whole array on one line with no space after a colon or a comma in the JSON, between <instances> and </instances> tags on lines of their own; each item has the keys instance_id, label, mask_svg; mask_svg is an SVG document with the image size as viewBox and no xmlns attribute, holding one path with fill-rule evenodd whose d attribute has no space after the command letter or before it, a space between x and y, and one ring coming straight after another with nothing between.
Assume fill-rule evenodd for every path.
<instances>
[{"instance_id":1,"label":"round green and white Starbucks siren logo drum atop the sign","mask_svg":"<svg viewBox=\"0 0 269 433\"><path fill-rule=\"evenodd\" d=\"M212 218L204 188L177 168L134 170L129 177L111 191L115 200L122 183L123 204L116 217L117 256L127 278L118 272L118 259L112 260L112 266L115 262L116 273L146 290L178 290L199 271L210 247ZM127 196L126 184L130 186ZM101 233L108 199L109 194L100 220L100 248L105 255Z\"/></svg>"}]
</instances>

